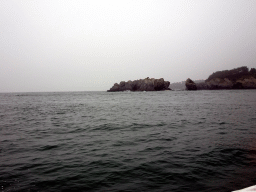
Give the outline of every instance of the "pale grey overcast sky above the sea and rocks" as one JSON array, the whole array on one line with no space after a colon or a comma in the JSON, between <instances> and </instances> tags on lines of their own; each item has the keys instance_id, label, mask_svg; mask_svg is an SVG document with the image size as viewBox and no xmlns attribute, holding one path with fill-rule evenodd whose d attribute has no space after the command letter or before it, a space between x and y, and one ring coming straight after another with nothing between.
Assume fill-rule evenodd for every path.
<instances>
[{"instance_id":1,"label":"pale grey overcast sky above the sea and rocks","mask_svg":"<svg viewBox=\"0 0 256 192\"><path fill-rule=\"evenodd\" d=\"M1 0L0 92L256 67L255 0Z\"/></svg>"}]
</instances>

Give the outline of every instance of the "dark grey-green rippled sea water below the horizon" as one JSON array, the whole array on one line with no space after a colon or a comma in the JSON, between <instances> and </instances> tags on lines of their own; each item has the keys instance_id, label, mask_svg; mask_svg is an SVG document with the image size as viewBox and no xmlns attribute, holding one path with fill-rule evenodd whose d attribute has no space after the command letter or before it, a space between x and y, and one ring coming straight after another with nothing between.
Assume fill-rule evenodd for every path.
<instances>
[{"instance_id":1,"label":"dark grey-green rippled sea water below the horizon","mask_svg":"<svg viewBox=\"0 0 256 192\"><path fill-rule=\"evenodd\" d=\"M1 191L256 185L256 90L0 94Z\"/></svg>"}]
</instances>

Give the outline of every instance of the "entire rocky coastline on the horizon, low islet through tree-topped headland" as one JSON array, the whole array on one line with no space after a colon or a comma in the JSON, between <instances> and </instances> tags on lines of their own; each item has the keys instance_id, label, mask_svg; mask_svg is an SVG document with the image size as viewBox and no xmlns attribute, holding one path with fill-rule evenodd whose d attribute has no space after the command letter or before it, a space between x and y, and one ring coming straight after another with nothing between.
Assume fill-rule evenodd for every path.
<instances>
[{"instance_id":1,"label":"entire rocky coastline on the horizon, low islet through tree-topped headland","mask_svg":"<svg viewBox=\"0 0 256 192\"><path fill-rule=\"evenodd\" d=\"M219 89L256 89L256 69L249 69L245 66L232 70L217 71L211 74L208 79L193 81L188 78L185 82L172 84L180 90L219 90ZM183 88L184 87L184 88ZM163 78L145 78L134 81L121 81L115 83L108 92L117 91L164 91L172 90L170 82Z\"/></svg>"}]
</instances>

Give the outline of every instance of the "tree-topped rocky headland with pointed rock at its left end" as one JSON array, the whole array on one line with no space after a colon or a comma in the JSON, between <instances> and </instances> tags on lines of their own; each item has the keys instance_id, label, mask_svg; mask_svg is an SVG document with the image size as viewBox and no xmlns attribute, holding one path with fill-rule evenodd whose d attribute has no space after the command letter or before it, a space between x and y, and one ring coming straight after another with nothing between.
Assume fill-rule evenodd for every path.
<instances>
[{"instance_id":1,"label":"tree-topped rocky headland with pointed rock at its left end","mask_svg":"<svg viewBox=\"0 0 256 192\"><path fill-rule=\"evenodd\" d=\"M188 78L187 90L256 89L256 69L243 66L232 70L217 71L204 82L196 83Z\"/></svg>"}]
</instances>

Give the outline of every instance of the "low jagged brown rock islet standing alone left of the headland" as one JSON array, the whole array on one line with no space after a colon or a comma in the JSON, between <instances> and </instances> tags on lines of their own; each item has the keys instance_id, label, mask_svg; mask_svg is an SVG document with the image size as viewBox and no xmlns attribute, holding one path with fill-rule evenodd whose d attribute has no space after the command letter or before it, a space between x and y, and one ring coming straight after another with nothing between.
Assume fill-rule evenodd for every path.
<instances>
[{"instance_id":1,"label":"low jagged brown rock islet standing alone left of the headland","mask_svg":"<svg viewBox=\"0 0 256 192\"><path fill-rule=\"evenodd\" d=\"M161 79L154 78L145 78L139 79L135 81L121 81L119 84L115 83L112 88L108 90L108 92L115 91L163 91L163 90L171 90L169 88L170 82L164 81Z\"/></svg>"}]
</instances>

